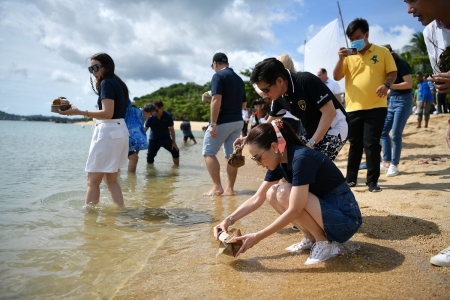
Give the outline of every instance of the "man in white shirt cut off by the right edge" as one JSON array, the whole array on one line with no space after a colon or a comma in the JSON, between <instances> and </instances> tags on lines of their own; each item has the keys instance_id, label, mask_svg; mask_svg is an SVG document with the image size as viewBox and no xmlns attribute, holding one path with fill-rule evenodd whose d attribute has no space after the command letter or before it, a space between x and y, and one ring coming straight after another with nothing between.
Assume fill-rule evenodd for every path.
<instances>
[{"instance_id":1,"label":"man in white shirt cut off by the right edge","mask_svg":"<svg viewBox=\"0 0 450 300\"><path fill-rule=\"evenodd\" d=\"M418 21L426 26L423 31L428 56L430 57L433 77L427 78L435 83L439 94L450 92L450 1L449 0L405 0L408 4L408 13L418 17ZM442 63L444 50L447 56L447 65ZM445 56L445 55L444 55ZM441 64L439 61L441 60ZM447 144L450 147L450 119L447 132ZM433 265L450 267L450 247L442 250L430 259Z\"/></svg>"}]
</instances>

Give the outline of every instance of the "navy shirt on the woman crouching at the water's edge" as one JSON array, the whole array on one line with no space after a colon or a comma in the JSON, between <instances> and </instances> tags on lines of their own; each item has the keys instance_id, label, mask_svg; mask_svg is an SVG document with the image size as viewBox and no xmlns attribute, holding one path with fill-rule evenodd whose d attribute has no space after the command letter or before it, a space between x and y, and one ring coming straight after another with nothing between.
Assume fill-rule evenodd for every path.
<instances>
[{"instance_id":1,"label":"navy shirt on the woman crouching at the water's edge","mask_svg":"<svg viewBox=\"0 0 450 300\"><path fill-rule=\"evenodd\" d=\"M345 182L344 175L324 154L306 146L287 146L288 163L268 170L264 181L285 178L292 186L309 184L309 192L321 197Z\"/></svg>"}]
</instances>

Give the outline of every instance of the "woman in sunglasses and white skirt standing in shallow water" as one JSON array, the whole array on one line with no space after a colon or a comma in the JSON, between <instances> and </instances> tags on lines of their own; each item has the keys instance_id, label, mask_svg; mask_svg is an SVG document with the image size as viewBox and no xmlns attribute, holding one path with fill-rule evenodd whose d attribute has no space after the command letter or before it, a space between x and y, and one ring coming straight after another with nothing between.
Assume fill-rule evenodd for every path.
<instances>
[{"instance_id":1,"label":"woman in sunglasses and white skirt standing in shallow water","mask_svg":"<svg viewBox=\"0 0 450 300\"><path fill-rule=\"evenodd\" d=\"M100 183L104 179L114 203L124 206L117 174L119 169L126 169L128 166L128 128L124 121L128 88L114 74L114 69L114 61L108 54L98 53L92 56L88 70L97 81L96 89L94 86L92 89L98 94L98 110L80 110L72 105L71 109L59 112L62 115L95 118L95 130L85 169L88 173L87 205L99 202Z\"/></svg>"}]
</instances>

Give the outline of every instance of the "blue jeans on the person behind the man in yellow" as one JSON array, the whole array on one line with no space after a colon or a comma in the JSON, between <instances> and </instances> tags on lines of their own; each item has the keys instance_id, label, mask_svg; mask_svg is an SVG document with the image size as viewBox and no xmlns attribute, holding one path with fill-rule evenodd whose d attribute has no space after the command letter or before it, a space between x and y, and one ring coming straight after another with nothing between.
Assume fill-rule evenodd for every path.
<instances>
[{"instance_id":1,"label":"blue jeans on the person behind the man in yellow","mask_svg":"<svg viewBox=\"0 0 450 300\"><path fill-rule=\"evenodd\" d=\"M389 97L388 113L384 121L384 128L381 134L381 145L383 146L383 161L398 165L400 153L402 152L402 134L406 121L411 114L412 95L396 95ZM392 129L392 143L389 132Z\"/></svg>"}]
</instances>

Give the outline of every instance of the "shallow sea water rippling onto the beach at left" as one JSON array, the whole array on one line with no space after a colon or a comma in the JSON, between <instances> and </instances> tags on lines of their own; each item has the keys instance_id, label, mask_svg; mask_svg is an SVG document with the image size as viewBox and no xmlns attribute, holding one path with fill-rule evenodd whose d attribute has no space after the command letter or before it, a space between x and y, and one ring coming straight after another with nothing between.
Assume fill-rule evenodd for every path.
<instances>
[{"instance_id":1,"label":"shallow sea water rippling onto the beach at left","mask_svg":"<svg viewBox=\"0 0 450 300\"><path fill-rule=\"evenodd\" d=\"M154 166L141 151L135 174L121 171L125 209L104 184L83 208L90 126L0 121L0 295L2 299L108 298L151 252L184 226L211 223L199 210L209 189L197 145L180 147L180 167L162 149Z\"/></svg>"}]
</instances>

